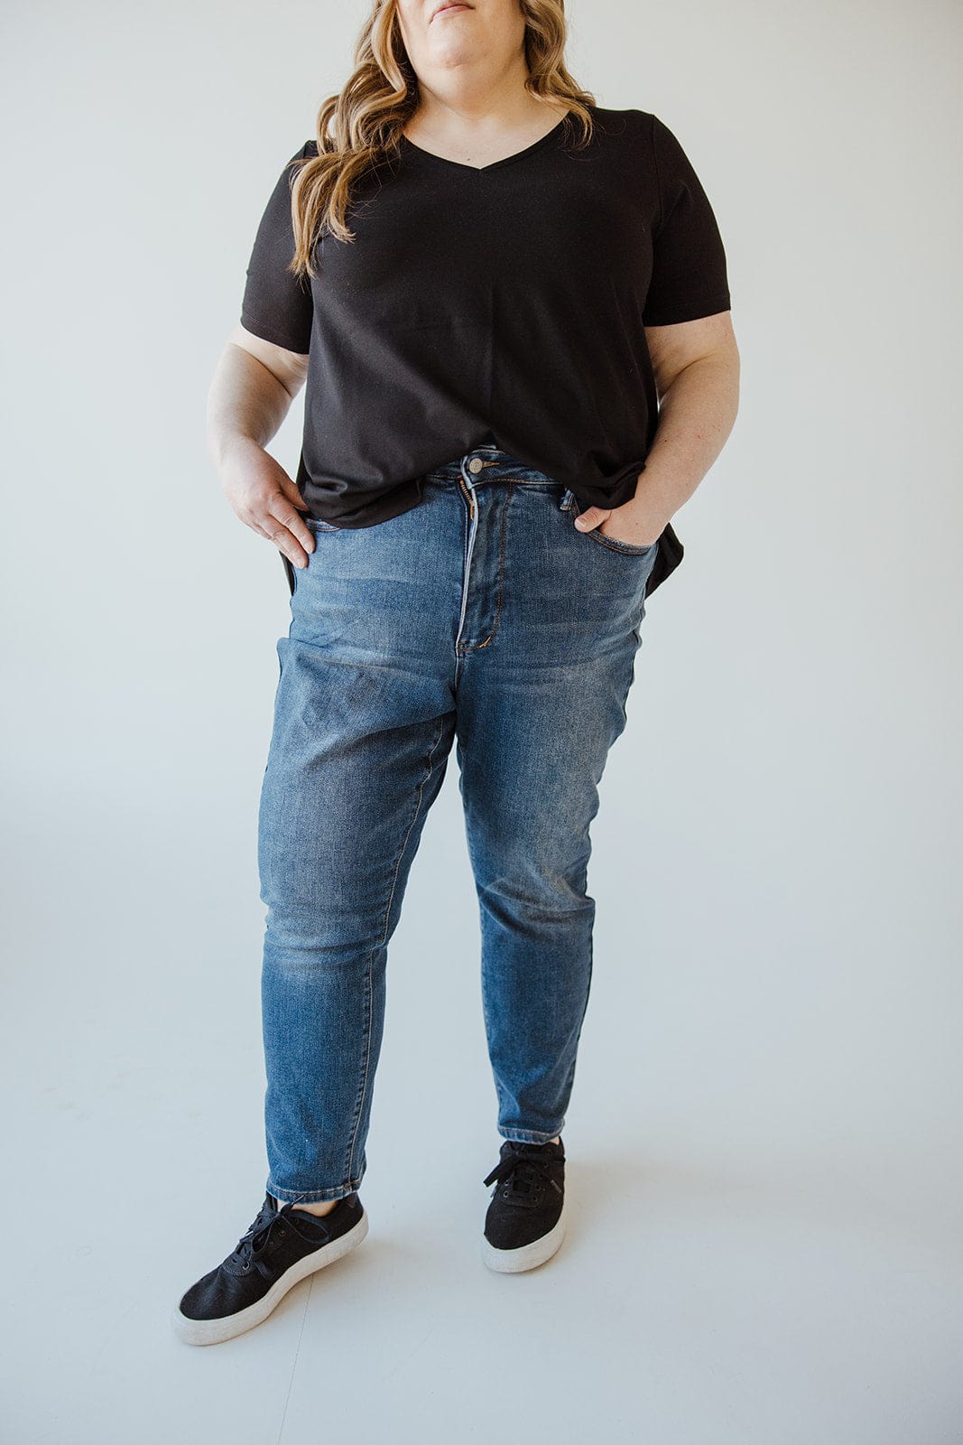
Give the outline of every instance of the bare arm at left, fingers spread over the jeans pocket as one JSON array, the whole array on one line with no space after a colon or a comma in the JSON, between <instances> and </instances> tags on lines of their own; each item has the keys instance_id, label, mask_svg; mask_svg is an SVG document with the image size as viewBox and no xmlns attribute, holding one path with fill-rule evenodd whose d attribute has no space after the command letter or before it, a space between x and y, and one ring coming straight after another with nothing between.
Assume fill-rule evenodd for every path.
<instances>
[{"instance_id":1,"label":"bare arm at left, fingers spread over the jeans pocket","mask_svg":"<svg viewBox=\"0 0 963 1445\"><path fill-rule=\"evenodd\" d=\"M308 357L235 327L208 392L208 451L235 516L295 566L315 540L302 519L297 484L264 448L305 384Z\"/></svg>"}]
</instances>

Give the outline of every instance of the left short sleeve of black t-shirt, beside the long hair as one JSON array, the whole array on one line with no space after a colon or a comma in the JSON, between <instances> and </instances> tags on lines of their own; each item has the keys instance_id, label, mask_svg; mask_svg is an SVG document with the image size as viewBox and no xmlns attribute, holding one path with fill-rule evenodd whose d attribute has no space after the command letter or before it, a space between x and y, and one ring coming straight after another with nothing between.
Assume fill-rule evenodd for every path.
<instances>
[{"instance_id":1,"label":"left short sleeve of black t-shirt, beside the long hair","mask_svg":"<svg viewBox=\"0 0 963 1445\"><path fill-rule=\"evenodd\" d=\"M295 256L290 185L295 160L315 155L316 143L309 140L280 173L254 237L241 302L241 325L245 331L300 355L306 355L310 347L313 301L310 280L287 270Z\"/></svg>"}]
</instances>

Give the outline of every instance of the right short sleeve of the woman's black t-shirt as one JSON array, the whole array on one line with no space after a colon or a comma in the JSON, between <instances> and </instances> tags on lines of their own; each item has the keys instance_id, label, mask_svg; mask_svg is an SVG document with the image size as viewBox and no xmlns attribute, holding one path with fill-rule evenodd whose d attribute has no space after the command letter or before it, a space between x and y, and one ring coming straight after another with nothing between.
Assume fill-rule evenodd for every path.
<instances>
[{"instance_id":1,"label":"right short sleeve of the woman's black t-shirt","mask_svg":"<svg viewBox=\"0 0 963 1445\"><path fill-rule=\"evenodd\" d=\"M729 311L726 254L709 197L668 126L653 116L660 215L642 325L671 327Z\"/></svg>"}]
</instances>

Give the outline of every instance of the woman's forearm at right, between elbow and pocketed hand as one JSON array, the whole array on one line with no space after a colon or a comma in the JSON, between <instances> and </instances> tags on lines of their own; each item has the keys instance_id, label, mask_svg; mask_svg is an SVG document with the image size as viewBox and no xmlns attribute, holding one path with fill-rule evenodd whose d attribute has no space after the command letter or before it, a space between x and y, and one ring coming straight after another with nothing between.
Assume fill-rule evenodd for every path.
<instances>
[{"instance_id":1,"label":"woman's forearm at right, between elbow and pocketed hand","mask_svg":"<svg viewBox=\"0 0 963 1445\"><path fill-rule=\"evenodd\" d=\"M738 409L738 354L693 361L663 394L645 470L635 497L625 503L647 535L658 536L689 501L725 447Z\"/></svg>"}]
</instances>

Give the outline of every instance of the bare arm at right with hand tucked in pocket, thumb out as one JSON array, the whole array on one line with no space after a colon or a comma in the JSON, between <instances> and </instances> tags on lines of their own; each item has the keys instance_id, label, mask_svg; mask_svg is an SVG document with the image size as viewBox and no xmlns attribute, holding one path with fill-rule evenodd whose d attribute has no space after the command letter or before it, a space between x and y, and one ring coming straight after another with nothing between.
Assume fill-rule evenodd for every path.
<instances>
[{"instance_id":1,"label":"bare arm at right with hand tucked in pocket, thumb out","mask_svg":"<svg viewBox=\"0 0 963 1445\"><path fill-rule=\"evenodd\" d=\"M739 409L739 351L732 314L647 327L658 390L658 428L635 496L621 507L586 507L576 526L645 545L654 542L706 475ZM611 530L603 523L612 519Z\"/></svg>"}]
</instances>

